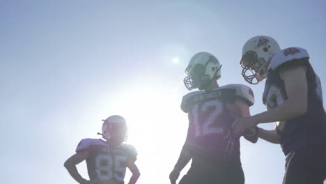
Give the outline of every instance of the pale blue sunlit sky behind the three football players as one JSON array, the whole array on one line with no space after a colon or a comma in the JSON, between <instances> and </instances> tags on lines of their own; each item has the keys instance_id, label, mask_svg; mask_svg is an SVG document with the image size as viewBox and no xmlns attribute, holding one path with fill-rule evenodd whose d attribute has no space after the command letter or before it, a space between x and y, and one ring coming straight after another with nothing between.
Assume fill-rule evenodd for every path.
<instances>
[{"instance_id":1,"label":"pale blue sunlit sky behind the three football players","mask_svg":"<svg viewBox=\"0 0 326 184\"><path fill-rule=\"evenodd\" d=\"M192 55L217 56L219 84L246 84L242 45L267 35L307 49L323 83L325 2L0 0L1 183L74 183L63 162L112 114L127 119L139 183L169 183L187 132L180 102ZM257 114L263 84L251 88ZM242 139L241 158L246 183L281 183L279 145Z\"/></svg>"}]
</instances>

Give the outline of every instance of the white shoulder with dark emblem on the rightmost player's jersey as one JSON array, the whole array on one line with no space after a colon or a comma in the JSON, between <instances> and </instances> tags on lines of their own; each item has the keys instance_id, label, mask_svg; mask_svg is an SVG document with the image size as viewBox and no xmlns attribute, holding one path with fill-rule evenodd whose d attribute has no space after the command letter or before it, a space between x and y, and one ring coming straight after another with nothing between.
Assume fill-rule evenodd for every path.
<instances>
[{"instance_id":1,"label":"white shoulder with dark emblem on the rightmost player's jersey","mask_svg":"<svg viewBox=\"0 0 326 184\"><path fill-rule=\"evenodd\" d=\"M309 58L308 52L306 49L302 49L300 47L290 47L287 49L282 49L272 57L270 61L270 66L272 70L275 70L277 67L281 66L283 63L287 61L291 61L293 59L302 59L302 58Z\"/></svg>"}]
</instances>

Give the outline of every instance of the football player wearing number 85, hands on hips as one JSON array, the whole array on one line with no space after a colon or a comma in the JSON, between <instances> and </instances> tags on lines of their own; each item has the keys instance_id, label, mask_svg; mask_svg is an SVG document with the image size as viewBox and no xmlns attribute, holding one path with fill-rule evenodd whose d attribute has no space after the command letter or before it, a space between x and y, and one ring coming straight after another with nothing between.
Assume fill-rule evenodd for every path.
<instances>
[{"instance_id":1,"label":"football player wearing number 85, hands on hips","mask_svg":"<svg viewBox=\"0 0 326 184\"><path fill-rule=\"evenodd\" d=\"M126 167L132 172L129 183L136 183L139 169L134 163L137 151L134 146L123 144L127 137L125 118L114 115L103 120L102 138L82 139L76 154L65 161L65 168L81 184L123 184ZM90 180L82 178L76 165L86 160Z\"/></svg>"}]
</instances>

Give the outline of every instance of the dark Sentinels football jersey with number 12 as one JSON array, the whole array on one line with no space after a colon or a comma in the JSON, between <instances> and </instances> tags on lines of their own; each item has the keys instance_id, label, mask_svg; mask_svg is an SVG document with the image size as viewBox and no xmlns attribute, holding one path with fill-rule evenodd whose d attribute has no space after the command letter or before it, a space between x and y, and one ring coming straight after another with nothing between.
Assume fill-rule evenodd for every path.
<instances>
[{"instance_id":1,"label":"dark Sentinels football jersey with number 12","mask_svg":"<svg viewBox=\"0 0 326 184\"><path fill-rule=\"evenodd\" d=\"M248 86L230 84L212 91L195 91L183 97L181 109L188 113L186 145L192 162L240 162L240 140L235 140L233 153L225 157L227 137L234 119L227 103L242 99L254 104L254 93Z\"/></svg>"}]
</instances>

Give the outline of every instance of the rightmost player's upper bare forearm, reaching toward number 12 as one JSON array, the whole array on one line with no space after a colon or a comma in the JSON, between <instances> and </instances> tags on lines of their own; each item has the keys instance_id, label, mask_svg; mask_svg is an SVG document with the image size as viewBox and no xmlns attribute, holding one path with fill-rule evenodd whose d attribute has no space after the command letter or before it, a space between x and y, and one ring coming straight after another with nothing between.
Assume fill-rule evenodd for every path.
<instances>
[{"instance_id":1,"label":"rightmost player's upper bare forearm, reaching toward number 12","mask_svg":"<svg viewBox=\"0 0 326 184\"><path fill-rule=\"evenodd\" d=\"M294 100L286 100L283 104L269 109L261 114L252 116L258 123L270 123L277 121L286 121L306 113L306 110L300 107Z\"/></svg>"}]
</instances>

